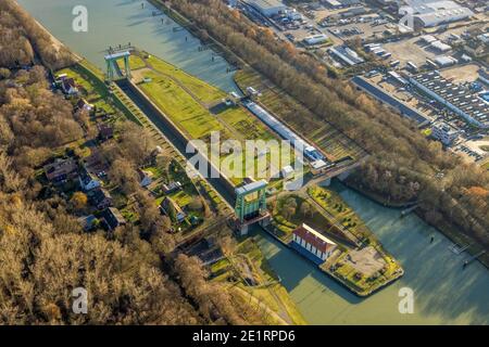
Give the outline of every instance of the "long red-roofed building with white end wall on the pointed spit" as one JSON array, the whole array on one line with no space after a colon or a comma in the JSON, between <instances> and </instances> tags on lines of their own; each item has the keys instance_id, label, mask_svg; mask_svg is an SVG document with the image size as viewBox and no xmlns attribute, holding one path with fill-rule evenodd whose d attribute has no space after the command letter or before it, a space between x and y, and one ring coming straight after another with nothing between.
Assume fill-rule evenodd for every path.
<instances>
[{"instance_id":1,"label":"long red-roofed building with white end wall on the pointed spit","mask_svg":"<svg viewBox=\"0 0 489 347\"><path fill-rule=\"evenodd\" d=\"M336 249L337 244L303 223L292 232L292 242L314 257L325 261Z\"/></svg>"}]
</instances>

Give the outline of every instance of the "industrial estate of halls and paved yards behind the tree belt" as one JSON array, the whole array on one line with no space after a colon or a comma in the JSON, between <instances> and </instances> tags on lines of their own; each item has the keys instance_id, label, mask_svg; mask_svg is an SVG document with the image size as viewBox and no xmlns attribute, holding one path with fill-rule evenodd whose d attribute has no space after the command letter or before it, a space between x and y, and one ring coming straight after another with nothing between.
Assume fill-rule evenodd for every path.
<instances>
[{"instance_id":1,"label":"industrial estate of halls and paved yards behind the tree belt","mask_svg":"<svg viewBox=\"0 0 489 347\"><path fill-rule=\"evenodd\" d=\"M412 27L401 14L405 3L398 3L325 0L292 8L250 0L236 5L444 147L487 165L487 3L415 1Z\"/></svg>"}]
</instances>

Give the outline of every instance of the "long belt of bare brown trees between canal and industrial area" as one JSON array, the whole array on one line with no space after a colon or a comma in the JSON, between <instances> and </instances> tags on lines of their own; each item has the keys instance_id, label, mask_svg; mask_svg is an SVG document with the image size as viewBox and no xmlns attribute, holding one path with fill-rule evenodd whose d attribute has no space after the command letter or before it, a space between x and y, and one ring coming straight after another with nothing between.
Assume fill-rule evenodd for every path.
<instances>
[{"instance_id":1,"label":"long belt of bare brown trees between canal and industrial area","mask_svg":"<svg viewBox=\"0 0 489 347\"><path fill-rule=\"evenodd\" d=\"M352 181L388 202L417 201L436 227L489 247L489 175L427 140L408 119L358 92L315 59L258 27L220 0L163 1L199 30L360 143L371 156ZM304 119L308 123L308 119Z\"/></svg>"}]
</instances>

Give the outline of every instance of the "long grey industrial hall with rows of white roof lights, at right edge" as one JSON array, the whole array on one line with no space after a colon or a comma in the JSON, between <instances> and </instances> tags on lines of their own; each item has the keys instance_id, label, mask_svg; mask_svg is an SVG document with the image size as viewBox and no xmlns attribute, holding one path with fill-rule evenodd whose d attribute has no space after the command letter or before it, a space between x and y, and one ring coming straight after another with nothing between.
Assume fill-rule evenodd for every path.
<instances>
[{"instance_id":1,"label":"long grey industrial hall with rows of white roof lights, at right edge","mask_svg":"<svg viewBox=\"0 0 489 347\"><path fill-rule=\"evenodd\" d=\"M489 128L489 105L472 90L444 79L438 72L410 77L424 94L479 128Z\"/></svg>"}]
</instances>

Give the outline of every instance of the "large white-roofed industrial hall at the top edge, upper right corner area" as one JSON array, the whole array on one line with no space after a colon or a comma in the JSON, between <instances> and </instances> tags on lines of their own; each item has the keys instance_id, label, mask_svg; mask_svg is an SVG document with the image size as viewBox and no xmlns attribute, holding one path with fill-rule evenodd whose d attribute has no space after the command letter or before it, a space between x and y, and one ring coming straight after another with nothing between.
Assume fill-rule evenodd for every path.
<instances>
[{"instance_id":1,"label":"large white-roofed industrial hall at the top edge, upper right corner area","mask_svg":"<svg viewBox=\"0 0 489 347\"><path fill-rule=\"evenodd\" d=\"M457 4L454 1L411 1L414 5L410 7L410 12L414 11L413 20L416 28L435 27L440 24L447 24L463 21L472 17L474 12Z\"/></svg>"}]
</instances>

